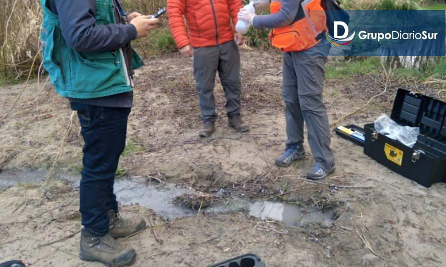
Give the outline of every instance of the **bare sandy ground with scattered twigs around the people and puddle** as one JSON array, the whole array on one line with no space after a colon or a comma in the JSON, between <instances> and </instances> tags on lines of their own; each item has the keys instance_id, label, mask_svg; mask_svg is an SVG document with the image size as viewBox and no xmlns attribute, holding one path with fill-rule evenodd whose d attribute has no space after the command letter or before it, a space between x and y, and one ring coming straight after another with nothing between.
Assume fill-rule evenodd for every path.
<instances>
[{"instance_id":1,"label":"bare sandy ground with scattered twigs around the people and puddle","mask_svg":"<svg viewBox=\"0 0 446 267\"><path fill-rule=\"evenodd\" d=\"M331 206L332 225L285 226L246 212L197 214L165 221L139 205L123 206L125 216L151 216L159 244L148 227L121 239L138 252L134 266L205 266L245 252L268 266L444 266L446 265L445 184L424 188L365 156L360 146L333 134L336 171L328 187L296 177L312 164L311 153L289 168L274 166L284 149L280 55L243 51L243 116L247 134L227 126L225 99L217 81L216 133L197 137L200 126L191 61L177 55L154 57L138 72L128 139L139 149L122 158L127 176L157 175L168 182L214 193ZM0 88L0 114L20 101L0 122L0 169L49 168L58 152L71 110L45 80ZM331 122L383 91L380 76L329 80L325 102ZM342 124L363 125L389 113L396 88ZM405 85L412 89L411 85ZM21 94L23 90L23 94ZM82 138L76 117L56 167L78 172ZM310 152L309 148L307 152ZM367 186L367 187L365 187ZM55 182L20 184L0 192L0 261L24 258L33 266L101 266L77 257L80 214L78 191ZM228 198L231 195L226 196Z\"/></svg>"}]
</instances>

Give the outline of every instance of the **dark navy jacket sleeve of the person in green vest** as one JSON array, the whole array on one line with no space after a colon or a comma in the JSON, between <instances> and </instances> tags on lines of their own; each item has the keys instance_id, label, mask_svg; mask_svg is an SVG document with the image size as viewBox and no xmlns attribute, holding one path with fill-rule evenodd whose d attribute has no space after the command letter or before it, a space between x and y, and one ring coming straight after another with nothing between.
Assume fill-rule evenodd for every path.
<instances>
[{"instance_id":1,"label":"dark navy jacket sleeve of the person in green vest","mask_svg":"<svg viewBox=\"0 0 446 267\"><path fill-rule=\"evenodd\" d=\"M104 52L123 48L136 39L131 24L96 25L95 0L54 0L62 35L76 52Z\"/></svg>"}]
</instances>

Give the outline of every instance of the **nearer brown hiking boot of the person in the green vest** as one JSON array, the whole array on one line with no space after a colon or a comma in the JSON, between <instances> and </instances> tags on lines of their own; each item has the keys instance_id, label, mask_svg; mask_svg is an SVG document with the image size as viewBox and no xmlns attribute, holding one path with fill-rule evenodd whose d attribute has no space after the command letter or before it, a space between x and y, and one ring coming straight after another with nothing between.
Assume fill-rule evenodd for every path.
<instances>
[{"instance_id":1,"label":"nearer brown hiking boot of the person in the green vest","mask_svg":"<svg viewBox=\"0 0 446 267\"><path fill-rule=\"evenodd\" d=\"M81 230L81 248L79 257L87 261L99 261L106 266L125 266L135 259L135 249L120 245L109 233L95 236L87 230Z\"/></svg>"}]
</instances>

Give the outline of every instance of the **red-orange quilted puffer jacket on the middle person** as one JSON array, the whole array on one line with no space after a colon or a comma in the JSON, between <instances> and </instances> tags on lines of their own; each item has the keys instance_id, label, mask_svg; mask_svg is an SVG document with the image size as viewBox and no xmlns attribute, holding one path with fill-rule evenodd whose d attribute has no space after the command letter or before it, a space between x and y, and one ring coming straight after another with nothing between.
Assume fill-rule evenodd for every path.
<instances>
[{"instance_id":1,"label":"red-orange quilted puffer jacket on the middle person","mask_svg":"<svg viewBox=\"0 0 446 267\"><path fill-rule=\"evenodd\" d=\"M241 8L242 0L167 0L170 32L178 48L227 43L234 40L231 19L235 25Z\"/></svg>"}]
</instances>

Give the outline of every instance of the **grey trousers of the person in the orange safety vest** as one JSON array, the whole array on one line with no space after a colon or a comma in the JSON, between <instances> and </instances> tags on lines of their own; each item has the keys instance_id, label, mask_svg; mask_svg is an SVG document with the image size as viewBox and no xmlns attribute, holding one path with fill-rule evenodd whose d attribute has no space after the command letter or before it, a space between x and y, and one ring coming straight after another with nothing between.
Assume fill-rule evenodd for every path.
<instances>
[{"instance_id":1,"label":"grey trousers of the person in the orange safety vest","mask_svg":"<svg viewBox=\"0 0 446 267\"><path fill-rule=\"evenodd\" d=\"M334 155L330 149L330 127L322 97L326 58L315 53L315 49L323 48L283 55L287 147L303 145L305 121L313 158L320 168L329 171L334 164Z\"/></svg>"}]
</instances>

